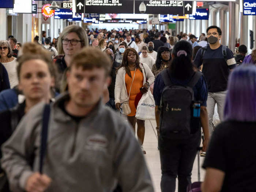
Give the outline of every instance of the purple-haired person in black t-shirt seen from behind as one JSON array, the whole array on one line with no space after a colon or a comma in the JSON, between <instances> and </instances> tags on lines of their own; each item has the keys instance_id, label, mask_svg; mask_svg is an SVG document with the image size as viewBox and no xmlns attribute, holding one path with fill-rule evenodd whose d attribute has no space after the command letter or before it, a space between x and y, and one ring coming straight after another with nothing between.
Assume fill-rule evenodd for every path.
<instances>
[{"instance_id":1,"label":"purple-haired person in black t-shirt seen from behind","mask_svg":"<svg viewBox=\"0 0 256 192\"><path fill-rule=\"evenodd\" d=\"M203 168L202 192L256 190L256 66L230 75L224 122L212 134Z\"/></svg>"}]
</instances>

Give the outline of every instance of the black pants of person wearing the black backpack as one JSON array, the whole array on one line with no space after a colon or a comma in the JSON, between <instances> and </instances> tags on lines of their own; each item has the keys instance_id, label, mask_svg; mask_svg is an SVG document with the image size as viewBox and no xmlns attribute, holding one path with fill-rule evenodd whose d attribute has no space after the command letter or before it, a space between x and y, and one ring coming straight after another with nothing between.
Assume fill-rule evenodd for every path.
<instances>
[{"instance_id":1,"label":"black pants of person wearing the black backpack","mask_svg":"<svg viewBox=\"0 0 256 192\"><path fill-rule=\"evenodd\" d=\"M162 192L175 192L177 176L178 192L187 191L187 186L191 184L191 172L200 142L200 131L185 140L169 140L159 136Z\"/></svg>"}]
</instances>

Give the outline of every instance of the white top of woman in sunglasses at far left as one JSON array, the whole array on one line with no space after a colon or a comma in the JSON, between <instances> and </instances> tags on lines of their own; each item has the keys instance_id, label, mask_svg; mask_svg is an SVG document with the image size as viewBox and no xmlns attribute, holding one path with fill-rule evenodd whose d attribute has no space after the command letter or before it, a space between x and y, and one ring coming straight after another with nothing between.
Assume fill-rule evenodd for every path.
<instances>
[{"instance_id":1,"label":"white top of woman in sunglasses at far left","mask_svg":"<svg viewBox=\"0 0 256 192\"><path fill-rule=\"evenodd\" d=\"M12 60L11 62L2 63L8 73L11 89L14 88L19 83L17 70L16 70L18 62L16 60L17 59L14 57L14 60Z\"/></svg>"}]
</instances>

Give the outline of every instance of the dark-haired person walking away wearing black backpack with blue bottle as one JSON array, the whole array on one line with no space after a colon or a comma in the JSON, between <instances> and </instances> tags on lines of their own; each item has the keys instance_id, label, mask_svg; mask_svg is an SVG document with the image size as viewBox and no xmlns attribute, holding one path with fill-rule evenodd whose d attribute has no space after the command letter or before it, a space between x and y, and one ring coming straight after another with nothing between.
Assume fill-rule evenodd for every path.
<instances>
[{"instance_id":1,"label":"dark-haired person walking away wearing black backpack with blue bottle","mask_svg":"<svg viewBox=\"0 0 256 192\"><path fill-rule=\"evenodd\" d=\"M196 72L192 56L189 42L177 42L172 50L170 67L163 70L155 80L162 192L175 191L177 176L178 192L186 192L187 186L191 184L193 162L201 141L200 122L205 138L204 151L209 140L207 84L202 73Z\"/></svg>"}]
</instances>

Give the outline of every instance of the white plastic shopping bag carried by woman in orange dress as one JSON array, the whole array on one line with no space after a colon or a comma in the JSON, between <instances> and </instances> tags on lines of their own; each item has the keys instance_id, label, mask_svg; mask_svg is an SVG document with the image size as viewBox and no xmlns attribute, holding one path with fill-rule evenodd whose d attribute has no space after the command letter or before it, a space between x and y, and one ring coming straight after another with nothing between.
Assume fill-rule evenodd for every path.
<instances>
[{"instance_id":1,"label":"white plastic shopping bag carried by woman in orange dress","mask_svg":"<svg viewBox=\"0 0 256 192\"><path fill-rule=\"evenodd\" d=\"M155 100L151 91L142 95L135 117L140 120L155 120Z\"/></svg>"}]
</instances>

